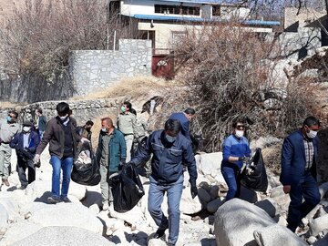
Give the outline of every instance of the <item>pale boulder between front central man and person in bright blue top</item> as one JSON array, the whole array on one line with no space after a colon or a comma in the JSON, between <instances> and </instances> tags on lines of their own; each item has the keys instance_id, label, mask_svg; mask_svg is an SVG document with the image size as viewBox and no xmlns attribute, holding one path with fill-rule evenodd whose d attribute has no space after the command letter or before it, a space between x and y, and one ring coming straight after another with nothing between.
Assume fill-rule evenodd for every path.
<instances>
[{"instance_id":1,"label":"pale boulder between front central man and person in bright blue top","mask_svg":"<svg viewBox=\"0 0 328 246\"><path fill-rule=\"evenodd\" d=\"M211 174L214 170L220 172L222 152L197 155L195 159L197 161L197 168L201 174Z\"/></svg>"}]
</instances>

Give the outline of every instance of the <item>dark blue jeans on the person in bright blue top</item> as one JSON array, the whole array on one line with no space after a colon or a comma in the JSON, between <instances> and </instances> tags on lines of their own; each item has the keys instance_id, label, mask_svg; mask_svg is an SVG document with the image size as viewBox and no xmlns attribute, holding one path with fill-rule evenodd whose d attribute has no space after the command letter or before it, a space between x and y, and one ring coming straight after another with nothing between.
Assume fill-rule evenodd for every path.
<instances>
[{"instance_id":1,"label":"dark blue jeans on the person in bright blue top","mask_svg":"<svg viewBox=\"0 0 328 246\"><path fill-rule=\"evenodd\" d=\"M241 196L241 172L237 166L221 166L221 172L228 185L226 200L239 198Z\"/></svg>"}]
</instances>

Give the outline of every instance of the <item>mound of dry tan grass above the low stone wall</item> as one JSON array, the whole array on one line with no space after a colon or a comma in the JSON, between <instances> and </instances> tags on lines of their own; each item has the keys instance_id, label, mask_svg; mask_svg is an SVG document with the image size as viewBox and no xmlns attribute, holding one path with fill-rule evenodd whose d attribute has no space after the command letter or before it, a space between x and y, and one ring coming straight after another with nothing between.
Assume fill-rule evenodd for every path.
<instances>
[{"instance_id":1,"label":"mound of dry tan grass above the low stone wall","mask_svg":"<svg viewBox=\"0 0 328 246\"><path fill-rule=\"evenodd\" d=\"M149 92L156 91L165 87L168 87L168 83L162 78L146 76L127 77L121 79L120 81L118 81L118 83L108 88L104 88L100 91L90 93L84 98L138 98L148 96ZM71 99L75 100L80 98L72 97Z\"/></svg>"}]
</instances>

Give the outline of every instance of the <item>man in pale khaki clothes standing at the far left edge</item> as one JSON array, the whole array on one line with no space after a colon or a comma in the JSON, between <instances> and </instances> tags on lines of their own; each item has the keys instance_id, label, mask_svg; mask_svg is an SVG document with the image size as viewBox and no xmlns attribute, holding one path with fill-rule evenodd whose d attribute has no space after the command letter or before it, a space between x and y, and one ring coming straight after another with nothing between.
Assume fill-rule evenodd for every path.
<instances>
[{"instance_id":1,"label":"man in pale khaki clothes standing at the far left edge","mask_svg":"<svg viewBox=\"0 0 328 246\"><path fill-rule=\"evenodd\" d=\"M5 120L0 121L0 176L5 186L10 186L8 177L12 149L9 143L20 130L19 124L16 123L17 117L15 111L10 111Z\"/></svg>"}]
</instances>

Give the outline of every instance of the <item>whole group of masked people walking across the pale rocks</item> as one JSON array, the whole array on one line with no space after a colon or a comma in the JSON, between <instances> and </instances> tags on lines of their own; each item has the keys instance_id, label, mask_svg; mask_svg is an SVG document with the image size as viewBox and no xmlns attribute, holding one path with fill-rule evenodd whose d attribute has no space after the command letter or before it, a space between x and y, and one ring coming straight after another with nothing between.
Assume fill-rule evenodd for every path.
<instances>
[{"instance_id":1,"label":"whole group of masked people walking across the pale rocks","mask_svg":"<svg viewBox=\"0 0 328 246\"><path fill-rule=\"evenodd\" d=\"M77 121L72 118L71 109L65 102L57 104L56 113L57 116L46 123L42 109L37 109L37 128L31 121L25 121L21 130L16 122L18 114L15 111L9 112L7 118L0 122L0 175L6 186L9 186L11 148L17 152L16 169L22 189L25 189L28 183L36 179L36 163L49 144L50 164L53 167L51 196L47 199L49 203L70 201L67 193L77 149L81 144L90 143L94 125L89 120L85 126L77 128ZM169 229L168 245L175 245L179 236L179 202L185 170L190 175L191 197L195 198L198 194L196 161L190 139L190 121L195 115L193 108L173 113L166 120L164 128L150 134L146 126L138 123L137 113L128 101L120 108L117 128L111 118L101 119L96 161L101 175L102 210L108 210L113 200L109 177L117 174L123 165L139 166L151 158L148 207L151 217L159 226L154 237L162 237ZM249 142L245 138L245 122L237 119L231 127L231 135L223 141L221 161L221 172L229 187L226 200L240 197L241 171L251 157ZM315 180L318 151L316 133L319 128L317 118L306 118L302 128L283 141L281 182L283 191L291 197L288 227L292 231L300 226L302 217L320 201ZM142 148L132 150L134 142L143 142ZM168 196L169 218L161 210L165 193Z\"/></svg>"}]
</instances>

